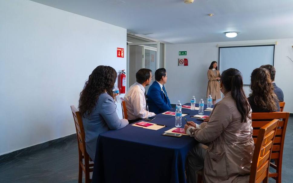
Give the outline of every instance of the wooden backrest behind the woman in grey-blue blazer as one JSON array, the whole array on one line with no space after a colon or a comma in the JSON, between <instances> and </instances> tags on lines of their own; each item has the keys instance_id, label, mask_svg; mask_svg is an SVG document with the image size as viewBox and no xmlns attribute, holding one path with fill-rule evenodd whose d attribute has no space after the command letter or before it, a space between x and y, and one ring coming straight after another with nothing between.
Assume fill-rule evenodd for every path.
<instances>
[{"instance_id":1,"label":"wooden backrest behind the woman in grey-blue blazer","mask_svg":"<svg viewBox=\"0 0 293 183\"><path fill-rule=\"evenodd\" d=\"M84 125L82 124L81 115L74 106L70 106L74 123L75 123L75 129L77 134L77 141L78 141L78 149L79 153L82 153L82 156L84 156L85 160L89 160L89 155L87 154L86 148L85 148L85 133L84 133Z\"/></svg>"}]
</instances>

